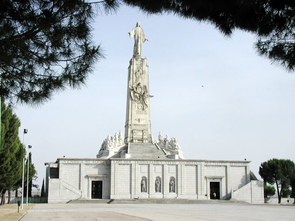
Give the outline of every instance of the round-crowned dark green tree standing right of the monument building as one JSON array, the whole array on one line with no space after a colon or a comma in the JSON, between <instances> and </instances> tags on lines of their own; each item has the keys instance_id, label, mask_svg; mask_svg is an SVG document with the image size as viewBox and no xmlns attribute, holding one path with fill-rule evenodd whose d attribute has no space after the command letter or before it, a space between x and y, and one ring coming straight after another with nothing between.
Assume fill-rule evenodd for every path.
<instances>
[{"instance_id":1,"label":"round-crowned dark green tree standing right of the monument building","mask_svg":"<svg viewBox=\"0 0 295 221\"><path fill-rule=\"evenodd\" d=\"M281 203L283 189L290 187L294 174L295 164L289 159L273 158L261 163L259 167L259 175L263 181L271 185L276 184L278 203Z\"/></svg>"}]
</instances>

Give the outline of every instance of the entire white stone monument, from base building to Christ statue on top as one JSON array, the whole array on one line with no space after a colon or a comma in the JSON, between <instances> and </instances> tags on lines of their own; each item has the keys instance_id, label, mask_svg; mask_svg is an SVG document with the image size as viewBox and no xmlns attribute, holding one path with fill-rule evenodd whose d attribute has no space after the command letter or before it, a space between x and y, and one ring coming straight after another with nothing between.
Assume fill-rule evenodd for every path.
<instances>
[{"instance_id":1,"label":"entire white stone monument, from base building to Christ statue on top","mask_svg":"<svg viewBox=\"0 0 295 221\"><path fill-rule=\"evenodd\" d=\"M108 135L96 158L45 163L48 202L234 198L263 203L263 181L250 171L250 161L184 159L175 136L160 132L152 138L148 65L141 55L147 39L140 22L129 35L135 43L128 67L125 137L122 131Z\"/></svg>"}]
</instances>

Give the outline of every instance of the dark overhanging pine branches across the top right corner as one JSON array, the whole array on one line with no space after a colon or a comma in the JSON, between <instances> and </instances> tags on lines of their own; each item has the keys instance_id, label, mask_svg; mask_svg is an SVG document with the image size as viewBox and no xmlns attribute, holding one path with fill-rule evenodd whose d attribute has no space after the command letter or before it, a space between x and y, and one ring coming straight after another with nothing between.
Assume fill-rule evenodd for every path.
<instances>
[{"instance_id":1,"label":"dark overhanging pine branches across the top right corner","mask_svg":"<svg viewBox=\"0 0 295 221\"><path fill-rule=\"evenodd\" d=\"M230 37L235 30L255 34L259 55L286 70L295 69L294 0L122 0L144 13L174 14L183 19L213 24Z\"/></svg>"}]
</instances>

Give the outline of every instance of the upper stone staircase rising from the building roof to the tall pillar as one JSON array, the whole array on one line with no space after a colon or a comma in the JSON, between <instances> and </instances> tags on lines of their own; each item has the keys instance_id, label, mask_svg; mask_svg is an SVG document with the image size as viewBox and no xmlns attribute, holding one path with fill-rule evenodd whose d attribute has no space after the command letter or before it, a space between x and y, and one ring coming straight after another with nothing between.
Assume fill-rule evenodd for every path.
<instances>
[{"instance_id":1,"label":"upper stone staircase rising from the building roof to the tall pillar","mask_svg":"<svg viewBox=\"0 0 295 221\"><path fill-rule=\"evenodd\" d=\"M155 144L130 143L130 159L168 159L163 150L159 150Z\"/></svg>"}]
</instances>

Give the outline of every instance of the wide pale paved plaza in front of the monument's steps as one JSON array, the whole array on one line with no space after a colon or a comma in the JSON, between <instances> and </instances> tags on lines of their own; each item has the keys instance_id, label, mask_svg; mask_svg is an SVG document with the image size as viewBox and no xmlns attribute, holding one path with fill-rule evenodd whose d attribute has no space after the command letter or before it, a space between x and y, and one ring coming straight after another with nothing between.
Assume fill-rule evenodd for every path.
<instances>
[{"instance_id":1,"label":"wide pale paved plaza in front of the monument's steps","mask_svg":"<svg viewBox=\"0 0 295 221\"><path fill-rule=\"evenodd\" d=\"M295 206L252 204L35 204L20 221L294 220Z\"/></svg>"}]
</instances>

